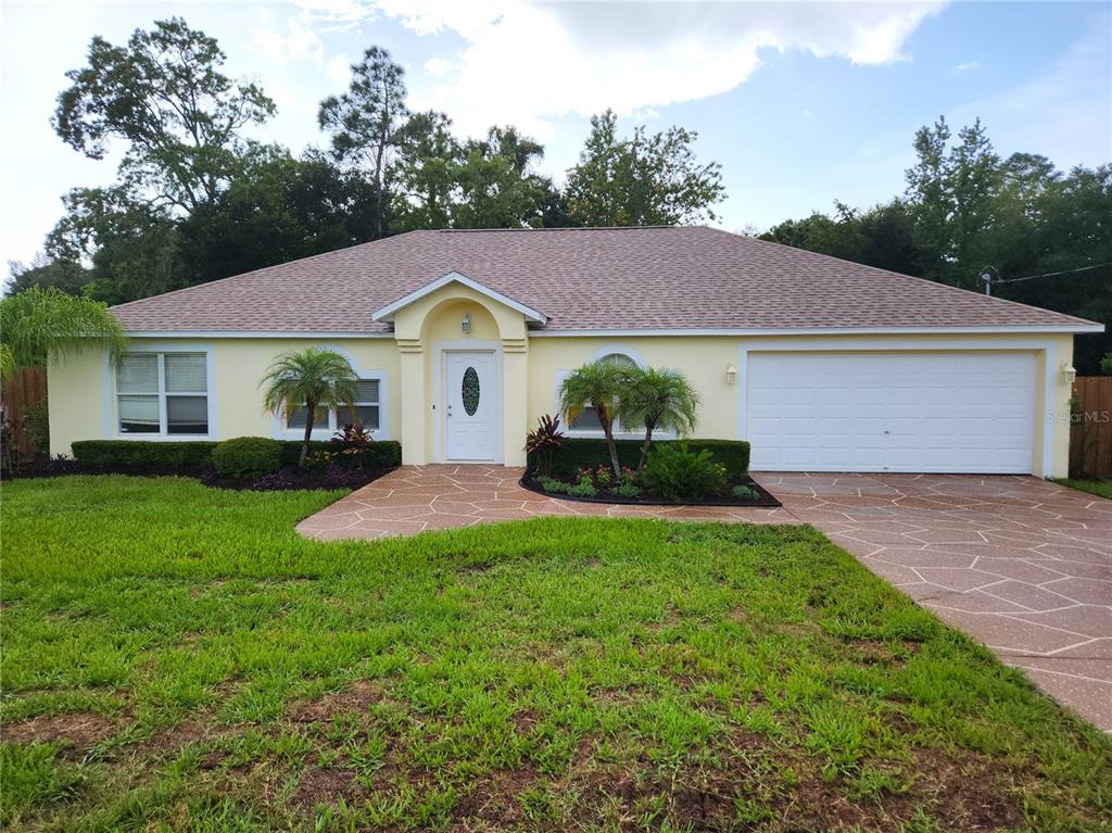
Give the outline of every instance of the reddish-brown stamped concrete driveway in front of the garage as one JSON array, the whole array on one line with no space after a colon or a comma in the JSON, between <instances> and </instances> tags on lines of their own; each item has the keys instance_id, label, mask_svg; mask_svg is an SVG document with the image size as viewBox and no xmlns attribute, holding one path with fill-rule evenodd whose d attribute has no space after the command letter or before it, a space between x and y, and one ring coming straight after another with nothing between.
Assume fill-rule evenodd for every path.
<instances>
[{"instance_id":1,"label":"reddish-brown stamped concrete driveway in front of the garage","mask_svg":"<svg viewBox=\"0 0 1112 833\"><path fill-rule=\"evenodd\" d=\"M1034 477L757 479L874 573L1112 731L1112 500Z\"/></svg>"}]
</instances>

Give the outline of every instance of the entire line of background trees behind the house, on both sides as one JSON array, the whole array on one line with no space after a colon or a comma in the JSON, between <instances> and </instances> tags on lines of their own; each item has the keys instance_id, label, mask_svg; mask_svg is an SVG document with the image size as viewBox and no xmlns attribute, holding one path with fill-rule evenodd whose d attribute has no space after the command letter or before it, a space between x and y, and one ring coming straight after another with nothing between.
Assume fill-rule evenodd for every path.
<instances>
[{"instance_id":1,"label":"entire line of background trees behind the house, on both sides","mask_svg":"<svg viewBox=\"0 0 1112 833\"><path fill-rule=\"evenodd\" d=\"M460 140L440 112L411 112L405 72L371 47L348 89L320 102L326 150L295 157L255 141L274 102L221 72L215 39L185 20L93 38L68 73L53 127L93 159L125 142L116 182L75 188L46 254L12 266L11 291L57 287L110 304L192 286L414 229L671 225L713 220L721 166L694 132L644 127L620 138L612 111L590 120L558 187L544 147L514 127ZM1112 323L1112 165L1055 169L1001 159L980 121L956 137L940 119L915 136L905 192L868 209L835 204L764 239ZM1015 280L1015 282L1009 282ZM1082 336L1074 364L1096 373L1112 336Z\"/></svg>"}]
</instances>

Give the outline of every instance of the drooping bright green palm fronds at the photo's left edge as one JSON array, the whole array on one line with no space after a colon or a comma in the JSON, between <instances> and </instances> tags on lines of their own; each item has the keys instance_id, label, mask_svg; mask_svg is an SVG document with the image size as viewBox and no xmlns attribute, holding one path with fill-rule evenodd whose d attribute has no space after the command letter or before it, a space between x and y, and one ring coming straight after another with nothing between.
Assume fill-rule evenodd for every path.
<instances>
[{"instance_id":1,"label":"drooping bright green palm fronds at the photo's left edge","mask_svg":"<svg viewBox=\"0 0 1112 833\"><path fill-rule=\"evenodd\" d=\"M31 287L0 300L0 376L102 347L115 359L127 346L123 327L106 304L66 295L54 287Z\"/></svg>"}]
</instances>

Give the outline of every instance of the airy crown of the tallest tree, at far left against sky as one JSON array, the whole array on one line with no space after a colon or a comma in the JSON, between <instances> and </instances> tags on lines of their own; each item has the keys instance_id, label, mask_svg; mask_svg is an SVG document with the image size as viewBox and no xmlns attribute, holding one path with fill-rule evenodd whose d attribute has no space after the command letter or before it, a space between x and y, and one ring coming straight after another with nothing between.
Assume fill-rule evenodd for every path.
<instances>
[{"instance_id":1,"label":"airy crown of the tallest tree, at far left against sky","mask_svg":"<svg viewBox=\"0 0 1112 833\"><path fill-rule=\"evenodd\" d=\"M66 73L54 130L92 159L126 140L121 184L135 198L186 211L214 199L238 169L240 130L275 111L258 87L220 72L216 40L181 18L137 29L123 47L96 37L88 60Z\"/></svg>"}]
</instances>

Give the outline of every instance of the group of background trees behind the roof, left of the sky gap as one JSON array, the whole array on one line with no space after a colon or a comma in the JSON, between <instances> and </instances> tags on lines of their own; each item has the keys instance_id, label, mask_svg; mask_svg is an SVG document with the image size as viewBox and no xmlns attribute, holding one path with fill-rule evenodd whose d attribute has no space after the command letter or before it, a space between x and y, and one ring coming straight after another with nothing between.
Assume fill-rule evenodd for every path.
<instances>
[{"instance_id":1,"label":"group of background trees behind the roof, left of the sky gap","mask_svg":"<svg viewBox=\"0 0 1112 833\"><path fill-rule=\"evenodd\" d=\"M111 141L126 152L112 186L63 197L44 256L13 265L12 291L120 304L414 229L689 222L713 219L723 196L718 166L695 161L694 133L622 139L609 111L557 188L535 168L544 147L515 128L461 141L444 113L410 112L405 72L378 47L320 102L328 149L295 157L245 136L275 105L224 62L180 18L125 46L92 39L53 127L87 157Z\"/></svg>"}]
</instances>

